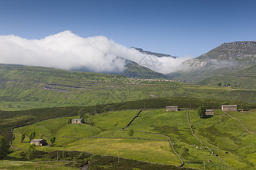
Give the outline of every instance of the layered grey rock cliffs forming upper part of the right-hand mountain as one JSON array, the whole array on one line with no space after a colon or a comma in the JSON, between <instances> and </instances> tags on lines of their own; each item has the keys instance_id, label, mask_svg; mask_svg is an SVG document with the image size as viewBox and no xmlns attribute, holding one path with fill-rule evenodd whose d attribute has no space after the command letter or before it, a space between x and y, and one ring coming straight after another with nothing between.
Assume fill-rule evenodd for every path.
<instances>
[{"instance_id":1,"label":"layered grey rock cliffs forming upper part of the right-hand mountain","mask_svg":"<svg viewBox=\"0 0 256 170\"><path fill-rule=\"evenodd\" d=\"M185 69L214 67L248 67L256 62L256 41L225 42L197 58L181 64Z\"/></svg>"}]
</instances>

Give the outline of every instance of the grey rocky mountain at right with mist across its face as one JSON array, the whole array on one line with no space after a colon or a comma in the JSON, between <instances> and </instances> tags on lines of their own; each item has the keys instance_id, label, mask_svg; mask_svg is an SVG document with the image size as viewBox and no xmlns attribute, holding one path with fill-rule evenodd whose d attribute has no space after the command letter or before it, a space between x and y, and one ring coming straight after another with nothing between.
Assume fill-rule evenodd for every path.
<instances>
[{"instance_id":1,"label":"grey rocky mountain at right with mist across its face","mask_svg":"<svg viewBox=\"0 0 256 170\"><path fill-rule=\"evenodd\" d=\"M212 76L239 73L254 66L256 41L225 42L197 58L184 61L179 71L167 74L167 78L200 84Z\"/></svg>"}]
</instances>

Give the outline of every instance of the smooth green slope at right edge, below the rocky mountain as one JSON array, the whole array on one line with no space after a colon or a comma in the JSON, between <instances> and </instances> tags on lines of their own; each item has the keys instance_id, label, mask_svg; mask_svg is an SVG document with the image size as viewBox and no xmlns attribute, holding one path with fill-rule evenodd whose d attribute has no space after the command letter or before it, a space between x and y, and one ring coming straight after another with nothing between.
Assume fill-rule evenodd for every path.
<instances>
[{"instance_id":1,"label":"smooth green slope at right edge, below the rocky mountain","mask_svg":"<svg viewBox=\"0 0 256 170\"><path fill-rule=\"evenodd\" d=\"M214 86L217 86L218 83L221 83L222 86L228 86L228 84L230 84L231 87L256 89L256 65L242 70L239 73L212 76L210 78L202 80L198 84L212 84Z\"/></svg>"}]
</instances>

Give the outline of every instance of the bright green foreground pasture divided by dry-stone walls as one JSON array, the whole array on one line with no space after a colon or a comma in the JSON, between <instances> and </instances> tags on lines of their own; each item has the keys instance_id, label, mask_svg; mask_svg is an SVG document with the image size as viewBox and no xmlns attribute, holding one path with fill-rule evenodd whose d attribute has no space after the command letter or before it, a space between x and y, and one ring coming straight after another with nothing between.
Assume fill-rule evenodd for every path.
<instances>
[{"instance_id":1,"label":"bright green foreground pasture divided by dry-stone walls","mask_svg":"<svg viewBox=\"0 0 256 170\"><path fill-rule=\"evenodd\" d=\"M93 126L85 124L70 125L68 124L69 117L63 117L16 128L14 131L19 133L26 131L26 134L28 134L35 130L36 134L55 135L57 138L55 145L53 147L36 147L37 150L41 151L51 152L58 148L60 151L87 151L94 154L117 156L119 149L120 156L123 158L179 165L181 162L178 156L174 154L168 141L129 139L127 131L121 130L138 112L139 110L96 114L92 117ZM254 120L256 118L255 112L255 110L243 112L246 116L241 112L230 112L230 114L234 117L237 116L237 118L241 114L241 121L243 122L242 118L245 118L244 121L246 121L246 118ZM204 146L193 137L187 120L187 111L166 112L164 109L142 111L139 117L135 118L126 129L132 128L133 130L168 135L173 140L175 150L178 153L182 147L188 147L189 155L183 158L185 161L184 167L202 169L204 165L203 156L205 156L207 169L229 169L225 163L215 156L218 153L234 169L254 169L256 159L255 135L247 133L243 126L233 118L220 115L223 113L222 111L216 110L214 113L219 115L202 119L197 116L196 111L189 111L194 133L203 141L204 145L206 139L206 145L210 147L214 154L205 150ZM236 116L233 114L236 114ZM253 123L247 125L249 129L253 128ZM28 138L24 140L24 143L20 143L19 133L15 133L13 145L24 149L29 144ZM124 139L117 139L120 137ZM167 139L157 134L137 131L134 132L133 138ZM47 137L45 139L49 141ZM13 152L11 156L19 157L20 152ZM225 152L229 152L229 154L225 154ZM212 162L208 163L208 159ZM192 163L189 164L189 161Z\"/></svg>"}]
</instances>

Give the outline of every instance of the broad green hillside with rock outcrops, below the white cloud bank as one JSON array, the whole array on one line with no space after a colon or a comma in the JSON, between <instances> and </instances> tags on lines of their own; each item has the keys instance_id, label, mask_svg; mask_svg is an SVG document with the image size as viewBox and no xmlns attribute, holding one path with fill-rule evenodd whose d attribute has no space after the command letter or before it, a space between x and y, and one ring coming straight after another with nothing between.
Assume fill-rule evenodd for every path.
<instances>
[{"instance_id":1,"label":"broad green hillside with rock outcrops, below the white cloud bank","mask_svg":"<svg viewBox=\"0 0 256 170\"><path fill-rule=\"evenodd\" d=\"M255 90L192 86L166 79L132 79L46 67L0 65L0 110L98 105L158 97L256 103Z\"/></svg>"}]
</instances>

